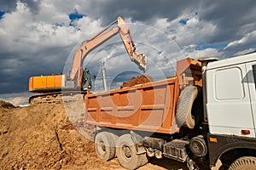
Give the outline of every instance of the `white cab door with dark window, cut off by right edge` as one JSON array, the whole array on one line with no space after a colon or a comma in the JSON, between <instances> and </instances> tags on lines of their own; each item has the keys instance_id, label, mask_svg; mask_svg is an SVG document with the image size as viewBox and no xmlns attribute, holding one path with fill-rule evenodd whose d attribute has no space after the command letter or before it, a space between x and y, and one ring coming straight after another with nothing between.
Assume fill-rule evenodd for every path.
<instances>
[{"instance_id":1,"label":"white cab door with dark window, cut off by right edge","mask_svg":"<svg viewBox=\"0 0 256 170\"><path fill-rule=\"evenodd\" d=\"M253 111L254 129L256 130L256 62L247 63L247 81L251 99L251 108ZM256 135L256 134L255 134Z\"/></svg>"}]
</instances>

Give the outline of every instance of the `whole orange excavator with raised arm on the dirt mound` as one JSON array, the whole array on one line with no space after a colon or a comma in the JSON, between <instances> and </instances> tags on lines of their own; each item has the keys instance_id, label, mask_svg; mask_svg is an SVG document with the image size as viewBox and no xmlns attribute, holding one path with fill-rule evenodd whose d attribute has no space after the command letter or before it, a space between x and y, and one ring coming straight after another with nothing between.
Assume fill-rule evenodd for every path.
<instances>
[{"instance_id":1,"label":"whole orange excavator with raised arm on the dirt mound","mask_svg":"<svg viewBox=\"0 0 256 170\"><path fill-rule=\"evenodd\" d=\"M117 26L113 27L117 23ZM110 28L112 27L112 28ZM29 78L29 91L38 93L29 99L30 104L60 103L73 100L73 95L90 93L90 73L83 69L86 56L95 48L119 34L132 62L139 69L146 71L147 56L137 54L131 32L125 21L118 17L109 26L99 31L94 37L81 43L73 54L73 64L68 75L51 75Z\"/></svg>"}]
</instances>

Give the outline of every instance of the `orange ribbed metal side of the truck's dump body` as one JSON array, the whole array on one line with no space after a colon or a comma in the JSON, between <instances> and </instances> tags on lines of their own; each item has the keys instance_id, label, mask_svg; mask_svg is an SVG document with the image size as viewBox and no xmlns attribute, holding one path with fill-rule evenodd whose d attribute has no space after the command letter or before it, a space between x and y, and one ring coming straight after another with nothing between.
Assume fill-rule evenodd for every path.
<instances>
[{"instance_id":1,"label":"orange ribbed metal side of the truck's dump body","mask_svg":"<svg viewBox=\"0 0 256 170\"><path fill-rule=\"evenodd\" d=\"M176 133L177 77L86 96L86 122L104 127Z\"/></svg>"}]
</instances>

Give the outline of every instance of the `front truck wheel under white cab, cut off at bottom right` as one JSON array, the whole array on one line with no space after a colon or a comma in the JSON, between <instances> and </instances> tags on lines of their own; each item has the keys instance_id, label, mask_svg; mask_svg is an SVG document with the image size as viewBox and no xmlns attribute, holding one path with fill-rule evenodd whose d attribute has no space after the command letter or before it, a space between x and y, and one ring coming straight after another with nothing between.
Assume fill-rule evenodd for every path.
<instances>
[{"instance_id":1,"label":"front truck wheel under white cab, cut off at bottom right","mask_svg":"<svg viewBox=\"0 0 256 170\"><path fill-rule=\"evenodd\" d=\"M234 161L229 170L254 170L256 169L256 157L244 156Z\"/></svg>"}]
</instances>

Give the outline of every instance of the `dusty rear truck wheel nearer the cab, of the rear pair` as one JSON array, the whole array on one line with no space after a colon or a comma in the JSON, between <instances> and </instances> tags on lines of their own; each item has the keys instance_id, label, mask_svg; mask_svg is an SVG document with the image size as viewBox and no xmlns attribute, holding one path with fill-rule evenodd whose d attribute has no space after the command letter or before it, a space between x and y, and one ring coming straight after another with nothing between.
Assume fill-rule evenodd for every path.
<instances>
[{"instance_id":1,"label":"dusty rear truck wheel nearer the cab, of the rear pair","mask_svg":"<svg viewBox=\"0 0 256 170\"><path fill-rule=\"evenodd\" d=\"M136 169L148 162L146 153L137 154L136 145L131 139L131 134L124 134L119 137L116 143L116 155L119 164L126 169Z\"/></svg>"}]
</instances>

